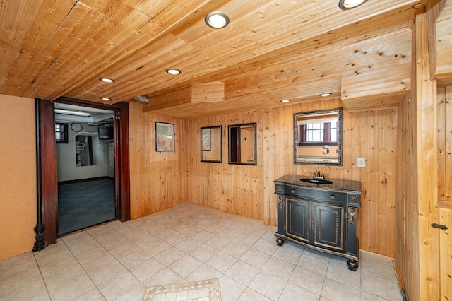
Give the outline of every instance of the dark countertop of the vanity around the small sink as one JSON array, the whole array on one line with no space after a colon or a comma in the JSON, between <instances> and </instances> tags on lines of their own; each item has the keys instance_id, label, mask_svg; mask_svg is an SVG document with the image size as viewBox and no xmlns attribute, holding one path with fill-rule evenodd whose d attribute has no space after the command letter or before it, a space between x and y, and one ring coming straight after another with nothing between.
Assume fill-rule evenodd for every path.
<instances>
[{"instance_id":1,"label":"dark countertop of the vanity around the small sink","mask_svg":"<svg viewBox=\"0 0 452 301\"><path fill-rule=\"evenodd\" d=\"M302 175L284 175L279 179L275 179L275 183L296 185L306 188L321 189L324 191L350 192L352 194L362 194L361 182L350 179L328 179L333 181L332 184L313 184L303 182L301 179L307 179L309 176Z\"/></svg>"}]
</instances>

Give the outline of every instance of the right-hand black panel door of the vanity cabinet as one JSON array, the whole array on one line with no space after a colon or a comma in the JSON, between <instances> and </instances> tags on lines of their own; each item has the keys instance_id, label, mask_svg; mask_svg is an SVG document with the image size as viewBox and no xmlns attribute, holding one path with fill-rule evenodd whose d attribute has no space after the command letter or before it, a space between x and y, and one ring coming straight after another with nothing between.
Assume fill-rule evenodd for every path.
<instances>
[{"instance_id":1,"label":"right-hand black panel door of the vanity cabinet","mask_svg":"<svg viewBox=\"0 0 452 301\"><path fill-rule=\"evenodd\" d=\"M343 251L344 207L314 203L314 245Z\"/></svg>"}]
</instances>

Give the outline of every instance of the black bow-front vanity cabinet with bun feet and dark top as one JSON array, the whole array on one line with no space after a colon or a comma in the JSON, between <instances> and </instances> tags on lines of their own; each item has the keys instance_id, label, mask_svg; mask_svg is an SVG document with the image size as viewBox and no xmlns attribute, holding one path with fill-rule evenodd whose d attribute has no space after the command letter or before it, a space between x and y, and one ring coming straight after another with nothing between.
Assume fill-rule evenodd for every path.
<instances>
[{"instance_id":1,"label":"black bow-front vanity cabinet with bun feet and dark top","mask_svg":"<svg viewBox=\"0 0 452 301\"><path fill-rule=\"evenodd\" d=\"M278 245L290 240L305 247L348 258L356 271L359 245L356 236L361 183L331 179L331 184L302 182L302 176L276 179Z\"/></svg>"}]
</instances>

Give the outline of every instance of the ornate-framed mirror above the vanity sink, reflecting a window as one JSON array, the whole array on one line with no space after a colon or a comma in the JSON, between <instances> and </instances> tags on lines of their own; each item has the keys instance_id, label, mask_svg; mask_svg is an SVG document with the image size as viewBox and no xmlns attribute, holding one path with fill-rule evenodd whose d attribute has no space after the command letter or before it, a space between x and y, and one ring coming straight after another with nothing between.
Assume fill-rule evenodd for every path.
<instances>
[{"instance_id":1,"label":"ornate-framed mirror above the vanity sink, reflecting a window","mask_svg":"<svg viewBox=\"0 0 452 301\"><path fill-rule=\"evenodd\" d=\"M342 165L342 108L294 114L297 164Z\"/></svg>"}]
</instances>

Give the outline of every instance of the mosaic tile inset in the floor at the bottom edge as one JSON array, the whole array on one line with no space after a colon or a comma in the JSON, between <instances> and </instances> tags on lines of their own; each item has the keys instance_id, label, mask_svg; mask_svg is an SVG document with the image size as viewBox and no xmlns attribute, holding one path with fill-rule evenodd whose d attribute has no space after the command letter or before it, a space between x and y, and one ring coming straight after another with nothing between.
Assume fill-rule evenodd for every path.
<instances>
[{"instance_id":1,"label":"mosaic tile inset in the floor at the bottom edge","mask_svg":"<svg viewBox=\"0 0 452 301\"><path fill-rule=\"evenodd\" d=\"M155 285L146 288L143 301L221 301L218 279Z\"/></svg>"}]
</instances>

